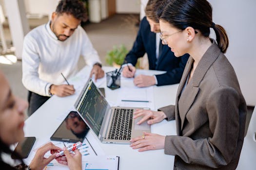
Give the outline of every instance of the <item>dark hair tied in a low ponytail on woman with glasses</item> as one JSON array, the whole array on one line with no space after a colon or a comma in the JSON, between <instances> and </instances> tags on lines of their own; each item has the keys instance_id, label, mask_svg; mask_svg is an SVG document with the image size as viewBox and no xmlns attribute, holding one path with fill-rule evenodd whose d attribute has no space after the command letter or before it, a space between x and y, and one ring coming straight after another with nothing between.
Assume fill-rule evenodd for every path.
<instances>
[{"instance_id":1,"label":"dark hair tied in a low ponytail on woman with glasses","mask_svg":"<svg viewBox=\"0 0 256 170\"><path fill-rule=\"evenodd\" d=\"M163 9L158 10L158 17L180 30L193 27L205 37L209 36L210 28L213 28L218 47L225 53L229 45L228 36L222 26L213 23L212 11L207 0L169 0Z\"/></svg>"}]
</instances>

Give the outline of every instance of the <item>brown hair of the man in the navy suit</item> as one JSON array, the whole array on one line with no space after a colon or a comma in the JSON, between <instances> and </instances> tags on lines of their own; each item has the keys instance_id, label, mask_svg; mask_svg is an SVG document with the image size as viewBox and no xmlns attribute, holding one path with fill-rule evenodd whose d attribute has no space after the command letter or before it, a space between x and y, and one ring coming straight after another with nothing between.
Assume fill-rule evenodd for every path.
<instances>
[{"instance_id":1,"label":"brown hair of the man in the navy suit","mask_svg":"<svg viewBox=\"0 0 256 170\"><path fill-rule=\"evenodd\" d=\"M159 22L157 17L158 6L163 2L163 0L148 0L147 6L145 8L145 14L148 18L155 22Z\"/></svg>"}]
</instances>

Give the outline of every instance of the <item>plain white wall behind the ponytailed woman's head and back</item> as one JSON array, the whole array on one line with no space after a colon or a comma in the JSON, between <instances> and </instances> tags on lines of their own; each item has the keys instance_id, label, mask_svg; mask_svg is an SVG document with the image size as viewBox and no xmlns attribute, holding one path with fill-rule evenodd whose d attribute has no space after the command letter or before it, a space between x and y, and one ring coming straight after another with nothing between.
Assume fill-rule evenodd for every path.
<instances>
[{"instance_id":1,"label":"plain white wall behind the ponytailed woman's head and back","mask_svg":"<svg viewBox=\"0 0 256 170\"><path fill-rule=\"evenodd\" d=\"M256 0L209 0L213 21L229 37L226 56L235 68L247 105L256 105Z\"/></svg>"}]
</instances>

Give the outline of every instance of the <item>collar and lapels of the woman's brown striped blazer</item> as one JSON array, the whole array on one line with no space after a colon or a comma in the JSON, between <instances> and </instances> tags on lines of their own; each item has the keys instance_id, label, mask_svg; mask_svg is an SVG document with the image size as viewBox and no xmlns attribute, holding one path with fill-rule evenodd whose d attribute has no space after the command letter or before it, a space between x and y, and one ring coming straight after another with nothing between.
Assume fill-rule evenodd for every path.
<instances>
[{"instance_id":1,"label":"collar and lapels of the woman's brown striped blazer","mask_svg":"<svg viewBox=\"0 0 256 170\"><path fill-rule=\"evenodd\" d=\"M185 75L182 76L182 82L180 82L180 85L178 88L177 101L176 101L176 105L178 105L177 110L176 110L178 115L176 115L176 116L179 116L179 119L180 119L180 127L179 127L180 131L182 131L182 129L183 129L186 114L189 111L193 102L195 101L197 93L200 90L198 86L200 85L206 72L212 66L212 64L215 62L215 60L217 59L217 57L220 53L220 50L219 50L217 44L215 43L215 40L211 39L211 41L213 43L208 48L208 50L204 53L204 55L202 56L200 61L198 62L197 68L194 71L191 81L188 83L186 88L183 90L182 94L180 94L181 90L186 82L187 76L191 70L192 64L194 62L192 57L190 57L191 59L189 59L189 61L192 61L192 62L189 64L189 67L186 66L186 68L188 68L188 69L185 68L186 73L185 73Z\"/></svg>"}]
</instances>

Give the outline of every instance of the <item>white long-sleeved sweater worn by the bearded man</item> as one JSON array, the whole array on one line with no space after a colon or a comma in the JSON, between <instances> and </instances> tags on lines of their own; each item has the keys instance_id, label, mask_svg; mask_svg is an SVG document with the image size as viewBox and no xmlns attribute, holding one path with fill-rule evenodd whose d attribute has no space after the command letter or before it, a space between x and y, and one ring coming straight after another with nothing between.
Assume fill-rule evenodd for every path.
<instances>
[{"instance_id":1,"label":"white long-sleeved sweater worn by the bearded man","mask_svg":"<svg viewBox=\"0 0 256 170\"><path fill-rule=\"evenodd\" d=\"M24 38L22 83L32 92L49 96L51 84L63 84L61 72L66 78L77 73L80 56L91 67L100 63L97 51L81 26L68 39L59 41L49 21L33 29Z\"/></svg>"}]
</instances>

